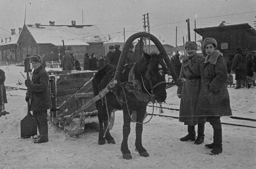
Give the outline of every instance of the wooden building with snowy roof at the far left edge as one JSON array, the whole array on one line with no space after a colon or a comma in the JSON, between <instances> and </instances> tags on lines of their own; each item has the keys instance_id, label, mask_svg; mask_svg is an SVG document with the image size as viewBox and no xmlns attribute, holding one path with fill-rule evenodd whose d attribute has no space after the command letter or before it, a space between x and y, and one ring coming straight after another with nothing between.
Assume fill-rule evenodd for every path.
<instances>
[{"instance_id":1,"label":"wooden building with snowy roof at the far left edge","mask_svg":"<svg viewBox=\"0 0 256 169\"><path fill-rule=\"evenodd\" d=\"M21 28L19 28L21 32ZM18 48L17 40L19 34L15 33L15 29L11 29L11 35L1 36L0 42L0 62L5 64L22 62L23 57L21 57L21 51Z\"/></svg>"}]
</instances>

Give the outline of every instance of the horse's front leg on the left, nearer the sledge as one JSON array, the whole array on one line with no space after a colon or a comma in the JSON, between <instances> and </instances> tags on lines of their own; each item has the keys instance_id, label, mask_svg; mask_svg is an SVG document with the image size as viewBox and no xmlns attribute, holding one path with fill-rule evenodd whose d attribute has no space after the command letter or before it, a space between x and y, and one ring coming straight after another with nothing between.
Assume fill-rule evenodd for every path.
<instances>
[{"instance_id":1,"label":"horse's front leg on the left, nearer the sledge","mask_svg":"<svg viewBox=\"0 0 256 169\"><path fill-rule=\"evenodd\" d=\"M131 131L131 118L129 116L127 108L123 110L124 124L123 124L123 141L121 144L121 152L123 153L124 159L132 159L131 152L128 149L128 136Z\"/></svg>"}]
</instances>

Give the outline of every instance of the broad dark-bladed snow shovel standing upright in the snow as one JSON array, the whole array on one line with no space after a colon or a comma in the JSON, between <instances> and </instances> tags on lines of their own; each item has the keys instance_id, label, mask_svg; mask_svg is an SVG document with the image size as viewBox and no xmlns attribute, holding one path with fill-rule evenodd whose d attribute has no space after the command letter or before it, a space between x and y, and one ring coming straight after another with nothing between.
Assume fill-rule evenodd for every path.
<instances>
[{"instance_id":1,"label":"broad dark-bladed snow shovel standing upright in the snow","mask_svg":"<svg viewBox=\"0 0 256 169\"><path fill-rule=\"evenodd\" d=\"M28 73L27 73L27 78ZM33 96L33 95L32 95ZM31 97L32 102L33 97ZM28 103L28 114L21 120L21 138L30 138L31 136L37 135L37 124L30 113L31 105Z\"/></svg>"}]
</instances>

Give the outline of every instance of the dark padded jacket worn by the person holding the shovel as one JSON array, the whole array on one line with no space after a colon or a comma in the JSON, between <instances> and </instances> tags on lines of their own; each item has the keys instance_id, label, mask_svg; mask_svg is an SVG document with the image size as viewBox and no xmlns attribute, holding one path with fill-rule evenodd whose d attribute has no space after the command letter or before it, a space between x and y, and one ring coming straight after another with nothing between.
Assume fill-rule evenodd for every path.
<instances>
[{"instance_id":1,"label":"dark padded jacket worn by the person holding the shovel","mask_svg":"<svg viewBox=\"0 0 256 169\"><path fill-rule=\"evenodd\" d=\"M49 75L41 65L33 71L27 94L31 100L30 111L42 111L51 108L51 98L48 89Z\"/></svg>"}]
</instances>

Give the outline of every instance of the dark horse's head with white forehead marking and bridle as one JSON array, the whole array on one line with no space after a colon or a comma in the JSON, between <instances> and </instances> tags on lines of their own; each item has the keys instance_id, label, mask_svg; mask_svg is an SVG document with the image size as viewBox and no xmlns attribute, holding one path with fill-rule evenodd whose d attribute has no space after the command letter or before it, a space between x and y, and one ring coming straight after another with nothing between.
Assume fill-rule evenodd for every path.
<instances>
[{"instance_id":1,"label":"dark horse's head with white forehead marking and bridle","mask_svg":"<svg viewBox=\"0 0 256 169\"><path fill-rule=\"evenodd\" d=\"M144 52L139 66L146 90L154 96L158 103L164 102L167 95L165 82L167 66L163 56L156 53L149 55Z\"/></svg>"}]
</instances>

